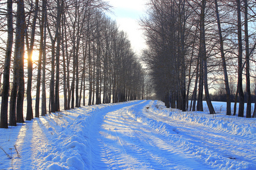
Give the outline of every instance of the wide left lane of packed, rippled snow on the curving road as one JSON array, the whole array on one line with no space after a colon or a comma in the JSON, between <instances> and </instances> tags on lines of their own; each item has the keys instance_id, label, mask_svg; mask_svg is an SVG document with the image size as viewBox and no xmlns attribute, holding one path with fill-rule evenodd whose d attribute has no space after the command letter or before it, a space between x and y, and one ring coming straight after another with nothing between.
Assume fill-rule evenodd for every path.
<instances>
[{"instance_id":1,"label":"wide left lane of packed, rippled snow on the curving road","mask_svg":"<svg viewBox=\"0 0 256 170\"><path fill-rule=\"evenodd\" d=\"M195 169L201 163L177 152L168 138L137 121L131 112L141 112L150 101L143 101L136 107L124 107L108 112L102 121L97 139L101 139L105 164L109 169ZM127 112L127 110L129 112ZM95 141L95 140L94 140ZM101 145L102 145L101 143ZM100 146L100 143L98 143ZM102 150L102 147L100 147ZM96 156L96 157L97 157ZM208 167L209 169L210 167Z\"/></svg>"}]
</instances>

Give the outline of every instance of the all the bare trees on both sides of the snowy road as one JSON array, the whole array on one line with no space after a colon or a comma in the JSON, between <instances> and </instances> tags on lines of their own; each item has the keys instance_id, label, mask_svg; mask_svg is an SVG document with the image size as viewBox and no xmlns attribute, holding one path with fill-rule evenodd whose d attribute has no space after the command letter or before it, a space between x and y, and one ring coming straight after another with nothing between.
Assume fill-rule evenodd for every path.
<instances>
[{"instance_id":1,"label":"all the bare trees on both sides of the snowy road","mask_svg":"<svg viewBox=\"0 0 256 170\"><path fill-rule=\"evenodd\" d=\"M214 114L212 94L218 93L227 115L238 110L243 117L246 102L246 117L255 117L255 3L148 0L139 20L147 49L137 56L106 15L106 1L1 1L0 128L24 122L24 100L31 120L152 94L181 111L203 111L206 100ZM231 108L232 101L239 107Z\"/></svg>"}]
</instances>

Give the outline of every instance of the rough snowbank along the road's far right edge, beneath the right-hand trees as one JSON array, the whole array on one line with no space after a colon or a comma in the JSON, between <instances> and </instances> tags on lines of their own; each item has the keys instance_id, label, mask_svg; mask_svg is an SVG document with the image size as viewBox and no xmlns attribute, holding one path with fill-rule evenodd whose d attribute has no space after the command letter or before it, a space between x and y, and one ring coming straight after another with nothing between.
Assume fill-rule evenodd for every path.
<instances>
[{"instance_id":1,"label":"rough snowbank along the road's far right edge, beneath the right-hand trees","mask_svg":"<svg viewBox=\"0 0 256 170\"><path fill-rule=\"evenodd\" d=\"M232 133L234 135L240 135L241 137L255 141L254 144L256 146L256 121L254 119L247 118L246 121L241 123L241 121L236 122L234 120L229 120L230 117L232 118L234 116L226 116L222 114L221 117L217 118L216 115L213 114L213 118L210 118L211 116L209 114L205 114L204 112L183 113L177 111L177 109L164 109L164 105L160 101L157 101L157 104L155 105L156 107L161 108L157 109L156 107L150 107L150 111L156 114L170 116L174 120L184 120L191 122L192 124L208 126L209 128L226 131L227 133ZM245 120L246 118L242 119Z\"/></svg>"}]
</instances>

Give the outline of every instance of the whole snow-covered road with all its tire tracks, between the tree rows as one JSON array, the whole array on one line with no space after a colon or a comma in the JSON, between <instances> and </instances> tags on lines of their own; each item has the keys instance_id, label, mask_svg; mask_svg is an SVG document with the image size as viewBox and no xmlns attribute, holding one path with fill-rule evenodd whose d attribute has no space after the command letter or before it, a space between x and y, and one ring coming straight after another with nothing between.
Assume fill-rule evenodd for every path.
<instances>
[{"instance_id":1,"label":"whole snow-covered road with all its tire tracks, between the tree rows","mask_svg":"<svg viewBox=\"0 0 256 170\"><path fill-rule=\"evenodd\" d=\"M256 162L255 142L156 114L151 105L156 101L106 113L92 137L94 169L249 168L247 162Z\"/></svg>"}]
</instances>

